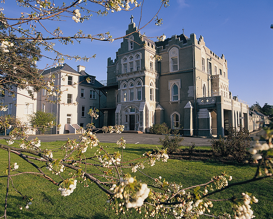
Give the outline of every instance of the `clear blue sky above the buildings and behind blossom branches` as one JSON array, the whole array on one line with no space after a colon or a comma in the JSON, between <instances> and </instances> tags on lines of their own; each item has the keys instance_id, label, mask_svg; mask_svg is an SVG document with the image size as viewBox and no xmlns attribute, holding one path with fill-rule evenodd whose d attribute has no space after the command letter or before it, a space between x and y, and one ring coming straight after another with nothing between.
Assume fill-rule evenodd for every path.
<instances>
[{"instance_id":1,"label":"clear blue sky above the buildings and behind blossom branches","mask_svg":"<svg viewBox=\"0 0 273 219\"><path fill-rule=\"evenodd\" d=\"M62 2L54 1L56 5ZM15 3L11 0L0 5L9 17L19 17L21 12L28 12L26 8L14 10ZM159 7L160 0L144 0L141 27L153 18ZM46 25L49 30L60 26L64 36L74 35L80 29L92 35L109 31L113 38L116 38L125 35L131 14L139 26L140 8L130 12L110 12L106 17L93 14L91 20L83 23L75 23L71 18L67 18L67 21L48 22ZM168 8L162 8L158 17L163 18L163 25L155 26L152 21L141 33L145 32L147 36L164 33L168 38L175 34L180 35L184 28L184 34L188 37L191 33L195 33L197 39L202 35L209 49L219 57L221 54L225 55L229 89L233 96L238 95L238 98L247 101L249 106L256 101L261 106L264 103L273 105L273 29L270 29L273 23L272 0L172 0ZM74 42L74 45L65 46L56 41L55 48L71 55L90 57L96 54L96 58L90 59L89 62L66 60L66 63L74 69L77 65L86 66L86 72L96 76L97 80L106 80L107 58L115 59L120 42L122 39L113 43L82 40L81 44ZM46 63L52 64L51 61L43 59L38 63L38 67L42 69Z\"/></svg>"}]
</instances>

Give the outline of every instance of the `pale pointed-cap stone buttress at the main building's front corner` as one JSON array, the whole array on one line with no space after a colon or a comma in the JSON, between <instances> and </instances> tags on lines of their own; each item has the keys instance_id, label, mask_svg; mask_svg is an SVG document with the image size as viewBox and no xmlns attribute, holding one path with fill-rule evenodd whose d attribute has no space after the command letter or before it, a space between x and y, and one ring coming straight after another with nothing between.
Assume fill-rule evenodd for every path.
<instances>
[{"instance_id":1,"label":"pale pointed-cap stone buttress at the main building's front corner","mask_svg":"<svg viewBox=\"0 0 273 219\"><path fill-rule=\"evenodd\" d=\"M186 106L184 106L184 135L193 135L193 105L189 101Z\"/></svg>"}]
</instances>

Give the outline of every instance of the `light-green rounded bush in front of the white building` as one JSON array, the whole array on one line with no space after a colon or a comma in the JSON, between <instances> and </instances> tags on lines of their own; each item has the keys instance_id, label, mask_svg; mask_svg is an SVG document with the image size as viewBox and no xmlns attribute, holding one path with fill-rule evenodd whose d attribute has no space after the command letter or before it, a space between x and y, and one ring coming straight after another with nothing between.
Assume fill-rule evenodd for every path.
<instances>
[{"instance_id":1,"label":"light-green rounded bush in front of the white building","mask_svg":"<svg viewBox=\"0 0 273 219\"><path fill-rule=\"evenodd\" d=\"M42 134L45 134L53 126L56 126L56 116L53 113L46 113L42 111L37 111L29 116L29 122L32 128L36 128Z\"/></svg>"}]
</instances>

